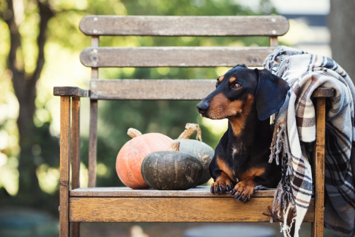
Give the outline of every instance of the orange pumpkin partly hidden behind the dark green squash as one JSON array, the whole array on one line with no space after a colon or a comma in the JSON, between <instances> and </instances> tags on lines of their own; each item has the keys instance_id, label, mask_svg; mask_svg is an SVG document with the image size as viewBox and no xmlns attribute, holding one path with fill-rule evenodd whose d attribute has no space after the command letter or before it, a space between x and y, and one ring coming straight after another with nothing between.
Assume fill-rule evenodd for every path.
<instances>
[{"instance_id":1,"label":"orange pumpkin partly hidden behind the dark green squash","mask_svg":"<svg viewBox=\"0 0 355 237\"><path fill-rule=\"evenodd\" d=\"M154 151L167 150L172 139L160 133L141 134L136 129L128 129L132 139L118 152L116 172L124 185L133 189L149 187L143 180L140 167L144 158Z\"/></svg>"}]
</instances>

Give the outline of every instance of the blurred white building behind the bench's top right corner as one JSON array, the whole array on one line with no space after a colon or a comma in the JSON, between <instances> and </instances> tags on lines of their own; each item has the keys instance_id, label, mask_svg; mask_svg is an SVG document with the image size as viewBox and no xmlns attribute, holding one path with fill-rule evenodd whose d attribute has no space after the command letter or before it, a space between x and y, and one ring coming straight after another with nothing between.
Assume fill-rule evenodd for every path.
<instances>
[{"instance_id":1,"label":"blurred white building behind the bench's top right corner","mask_svg":"<svg viewBox=\"0 0 355 237\"><path fill-rule=\"evenodd\" d=\"M330 12L329 0L270 0L279 15L290 21L289 32L279 37L281 43L309 53L332 56L330 33L327 27ZM260 0L238 1L258 10Z\"/></svg>"}]
</instances>

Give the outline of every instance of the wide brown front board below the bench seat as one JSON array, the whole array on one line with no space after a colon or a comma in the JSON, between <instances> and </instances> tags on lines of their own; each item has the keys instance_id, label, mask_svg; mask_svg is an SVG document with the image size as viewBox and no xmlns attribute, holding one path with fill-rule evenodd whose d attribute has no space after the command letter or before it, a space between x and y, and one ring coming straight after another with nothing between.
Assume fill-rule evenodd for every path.
<instances>
[{"instance_id":1,"label":"wide brown front board below the bench seat","mask_svg":"<svg viewBox=\"0 0 355 237\"><path fill-rule=\"evenodd\" d=\"M70 198L75 222L269 222L273 198ZM305 222L314 220L313 200Z\"/></svg>"}]
</instances>

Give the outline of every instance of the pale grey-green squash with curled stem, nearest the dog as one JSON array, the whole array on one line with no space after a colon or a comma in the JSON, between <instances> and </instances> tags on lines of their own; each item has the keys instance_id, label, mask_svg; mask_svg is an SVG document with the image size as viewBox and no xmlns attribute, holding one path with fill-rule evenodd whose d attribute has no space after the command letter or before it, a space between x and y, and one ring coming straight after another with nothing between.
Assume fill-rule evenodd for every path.
<instances>
[{"instance_id":1,"label":"pale grey-green squash with curled stem, nearest the dog","mask_svg":"<svg viewBox=\"0 0 355 237\"><path fill-rule=\"evenodd\" d=\"M195 132L197 133L196 139L198 140L190 139L191 135ZM185 131L174 141L180 142L180 151L190 153L200 160L203 172L197 185L206 183L211 178L208 168L215 155L215 150L202 142L200 126L198 124L186 124Z\"/></svg>"}]
</instances>

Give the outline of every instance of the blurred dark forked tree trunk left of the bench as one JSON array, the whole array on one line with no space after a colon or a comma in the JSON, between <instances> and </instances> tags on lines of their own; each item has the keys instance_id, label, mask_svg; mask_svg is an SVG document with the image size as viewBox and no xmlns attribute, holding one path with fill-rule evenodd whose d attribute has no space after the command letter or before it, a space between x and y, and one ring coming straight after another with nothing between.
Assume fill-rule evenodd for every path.
<instances>
[{"instance_id":1,"label":"blurred dark forked tree trunk left of the bench","mask_svg":"<svg viewBox=\"0 0 355 237\"><path fill-rule=\"evenodd\" d=\"M19 131L19 191L17 201L20 204L28 206L41 206L45 201L45 195L42 192L36 170L40 165L35 161L32 154L32 147L37 144L39 129L34 126L33 116L35 112L35 97L37 94L37 82L40 78L44 66L44 45L46 42L47 23L54 13L48 5L36 1L39 15L41 17L39 25L39 35L37 38L38 56L35 70L33 73L27 73L24 66L19 67L19 61L23 61L18 50L22 48L21 34L19 26L15 22L14 6L12 0L7 0L8 10L11 11L9 18L5 19L10 30L10 52L8 67L12 72L12 83L15 95L19 102L19 116L17 126ZM22 57L22 58L20 58ZM24 62L25 63L25 62ZM29 194L30 193L30 194Z\"/></svg>"}]
</instances>

